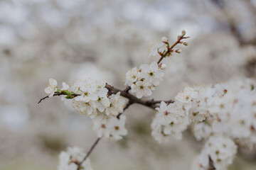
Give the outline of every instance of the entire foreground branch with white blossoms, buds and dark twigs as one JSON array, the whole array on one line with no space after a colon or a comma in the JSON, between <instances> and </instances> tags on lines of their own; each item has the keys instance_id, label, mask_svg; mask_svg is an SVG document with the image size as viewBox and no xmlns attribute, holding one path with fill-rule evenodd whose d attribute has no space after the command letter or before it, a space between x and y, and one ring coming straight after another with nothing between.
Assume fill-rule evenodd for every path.
<instances>
[{"instance_id":1,"label":"entire foreground branch with white blossoms, buds and dark twigs","mask_svg":"<svg viewBox=\"0 0 256 170\"><path fill-rule=\"evenodd\" d=\"M160 59L150 64L134 67L126 73L126 89L120 90L104 80L76 80L73 84L58 87L55 79L49 79L46 98L61 96L66 105L92 119L97 140L85 154L78 147L69 147L60 153L59 170L92 169L89 156L102 138L121 140L127 135L124 111L134 103L156 110L151 123L151 135L159 143L174 137L181 140L182 132L193 130L196 140L203 140L201 153L193 161L191 169L228 169L237 152L238 144L256 146L256 95L255 80L244 79L210 84L187 86L174 100L146 100L164 78L164 59L176 53L176 45L188 45L183 30L176 42L161 38L151 47L149 57Z\"/></svg>"}]
</instances>

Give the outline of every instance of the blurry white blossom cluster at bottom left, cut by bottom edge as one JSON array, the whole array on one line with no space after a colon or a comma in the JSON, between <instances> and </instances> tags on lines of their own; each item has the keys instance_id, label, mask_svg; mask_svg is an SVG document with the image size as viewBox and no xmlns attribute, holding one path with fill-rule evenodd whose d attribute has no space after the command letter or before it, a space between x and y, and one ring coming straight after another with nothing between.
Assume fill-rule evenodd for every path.
<instances>
[{"instance_id":1,"label":"blurry white blossom cluster at bottom left, cut by bottom edge","mask_svg":"<svg viewBox=\"0 0 256 170\"><path fill-rule=\"evenodd\" d=\"M82 162L85 155L79 147L68 147L67 152L60 152L58 170L78 170L78 164ZM80 164L80 169L92 170L89 158Z\"/></svg>"}]
</instances>

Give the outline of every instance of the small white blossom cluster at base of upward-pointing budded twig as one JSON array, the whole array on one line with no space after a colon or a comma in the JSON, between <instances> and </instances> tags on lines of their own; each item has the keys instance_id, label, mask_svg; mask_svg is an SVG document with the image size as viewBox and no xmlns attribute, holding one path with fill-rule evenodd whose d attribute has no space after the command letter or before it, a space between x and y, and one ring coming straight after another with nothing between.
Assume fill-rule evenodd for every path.
<instances>
[{"instance_id":1,"label":"small white blossom cluster at base of upward-pointing budded twig","mask_svg":"<svg viewBox=\"0 0 256 170\"><path fill-rule=\"evenodd\" d=\"M165 65L151 62L151 64L142 64L139 69L134 67L126 74L125 85L131 86L132 93L137 98L151 96L156 86L159 86L161 79L164 77Z\"/></svg>"}]
</instances>

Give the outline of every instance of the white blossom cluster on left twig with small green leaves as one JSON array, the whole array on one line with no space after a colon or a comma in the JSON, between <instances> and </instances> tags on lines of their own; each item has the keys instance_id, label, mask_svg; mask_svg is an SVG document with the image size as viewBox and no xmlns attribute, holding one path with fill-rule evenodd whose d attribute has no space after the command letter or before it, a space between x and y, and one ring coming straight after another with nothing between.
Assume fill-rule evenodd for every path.
<instances>
[{"instance_id":1,"label":"white blossom cluster on left twig with small green leaves","mask_svg":"<svg viewBox=\"0 0 256 170\"><path fill-rule=\"evenodd\" d=\"M58 89L57 81L50 79L45 91L49 97L62 94L62 101L92 118L93 129L98 137L120 140L123 135L127 135L124 127L126 118L124 115L117 118L117 115L124 111L126 101L120 96L120 92L109 96L105 86L103 80L86 79L76 80L70 86L63 82L63 88Z\"/></svg>"}]
</instances>

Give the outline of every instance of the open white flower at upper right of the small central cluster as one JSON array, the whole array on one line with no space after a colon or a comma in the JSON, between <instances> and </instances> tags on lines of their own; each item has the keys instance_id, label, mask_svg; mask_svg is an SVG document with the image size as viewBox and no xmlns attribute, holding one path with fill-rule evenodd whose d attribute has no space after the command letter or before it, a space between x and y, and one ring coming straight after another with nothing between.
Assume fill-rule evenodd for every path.
<instances>
[{"instance_id":1,"label":"open white flower at upper right of the small central cluster","mask_svg":"<svg viewBox=\"0 0 256 170\"><path fill-rule=\"evenodd\" d=\"M157 62L152 62L150 65L142 64L141 72L139 72L139 77L146 79L154 86L158 86L160 84L160 80L164 77L164 72L159 68Z\"/></svg>"}]
</instances>

